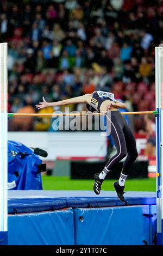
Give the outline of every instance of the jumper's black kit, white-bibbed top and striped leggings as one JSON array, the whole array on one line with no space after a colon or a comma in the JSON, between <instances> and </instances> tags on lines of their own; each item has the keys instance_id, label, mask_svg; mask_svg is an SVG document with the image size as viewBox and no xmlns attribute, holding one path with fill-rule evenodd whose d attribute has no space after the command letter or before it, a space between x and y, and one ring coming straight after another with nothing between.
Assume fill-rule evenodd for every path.
<instances>
[{"instance_id":1,"label":"jumper's black kit, white-bibbed top and striped leggings","mask_svg":"<svg viewBox=\"0 0 163 256\"><path fill-rule=\"evenodd\" d=\"M114 94L102 91L93 92L91 105L87 105L87 109L99 112L100 106L105 100L115 102ZM122 174L128 175L131 165L137 157L135 137L120 111L110 111L110 114L105 114L105 116L111 124L110 135L114 140L117 153L109 159L103 171L108 173L116 163L127 156L123 162Z\"/></svg>"}]
</instances>

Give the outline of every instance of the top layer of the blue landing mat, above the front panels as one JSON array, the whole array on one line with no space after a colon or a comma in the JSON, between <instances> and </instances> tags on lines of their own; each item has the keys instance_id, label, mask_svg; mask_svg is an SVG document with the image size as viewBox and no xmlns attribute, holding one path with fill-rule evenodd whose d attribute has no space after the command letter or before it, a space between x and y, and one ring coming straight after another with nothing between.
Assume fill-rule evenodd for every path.
<instances>
[{"instance_id":1,"label":"top layer of the blue landing mat, above the front panels","mask_svg":"<svg viewBox=\"0 0 163 256\"><path fill-rule=\"evenodd\" d=\"M126 192L127 203L121 202L114 191L8 191L8 213L22 214L63 208L97 208L124 205L154 205L155 192Z\"/></svg>"}]
</instances>

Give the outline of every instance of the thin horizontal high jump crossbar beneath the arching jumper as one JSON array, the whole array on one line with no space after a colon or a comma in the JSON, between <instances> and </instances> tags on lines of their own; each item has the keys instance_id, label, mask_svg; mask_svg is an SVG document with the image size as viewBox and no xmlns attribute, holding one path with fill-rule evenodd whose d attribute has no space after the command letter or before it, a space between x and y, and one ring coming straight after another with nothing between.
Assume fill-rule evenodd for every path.
<instances>
[{"instance_id":1,"label":"thin horizontal high jump crossbar beneath the arching jumper","mask_svg":"<svg viewBox=\"0 0 163 256\"><path fill-rule=\"evenodd\" d=\"M158 111L121 112L122 115L158 114ZM8 113L8 117L62 117L82 115L104 115L105 113Z\"/></svg>"}]
</instances>

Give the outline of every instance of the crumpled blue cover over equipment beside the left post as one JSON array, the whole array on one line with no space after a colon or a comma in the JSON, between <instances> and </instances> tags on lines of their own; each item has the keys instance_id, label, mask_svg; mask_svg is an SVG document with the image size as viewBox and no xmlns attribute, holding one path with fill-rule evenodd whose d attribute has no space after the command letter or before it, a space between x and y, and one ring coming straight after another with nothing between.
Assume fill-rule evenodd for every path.
<instances>
[{"instance_id":1,"label":"crumpled blue cover over equipment beside the left post","mask_svg":"<svg viewBox=\"0 0 163 256\"><path fill-rule=\"evenodd\" d=\"M8 182L16 183L14 190L42 190L41 173L38 165L42 163L33 150L20 142L8 141Z\"/></svg>"}]
</instances>

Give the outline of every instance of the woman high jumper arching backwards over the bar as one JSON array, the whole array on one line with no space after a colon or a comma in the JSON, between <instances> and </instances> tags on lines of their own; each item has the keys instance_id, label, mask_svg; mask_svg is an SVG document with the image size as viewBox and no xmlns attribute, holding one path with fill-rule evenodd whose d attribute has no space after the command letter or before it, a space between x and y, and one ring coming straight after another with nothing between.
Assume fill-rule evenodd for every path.
<instances>
[{"instance_id":1,"label":"woman high jumper arching backwards over the bar","mask_svg":"<svg viewBox=\"0 0 163 256\"><path fill-rule=\"evenodd\" d=\"M47 102L43 97L43 102L39 102L39 105L36 105L36 108L40 109L49 106L57 107L76 103L86 103L87 109L91 112L98 111L105 113L105 116L108 118L109 124L111 125L110 134L114 140L117 150L117 153L110 158L108 163L106 163L106 166L102 172L95 174L93 190L96 194L99 194L105 176L110 172L113 166L127 156L123 162L120 179L113 184L118 198L120 198L122 202L125 202L123 197L124 182L129 174L131 165L134 163L137 157L136 141L133 132L128 126L126 119L118 111L118 108L126 108L126 104L116 101L114 99L114 94L112 93L97 91L93 92L92 94L85 94L83 96L73 97L71 99L57 102ZM110 117L108 114L106 114L108 111L110 111Z\"/></svg>"}]
</instances>

